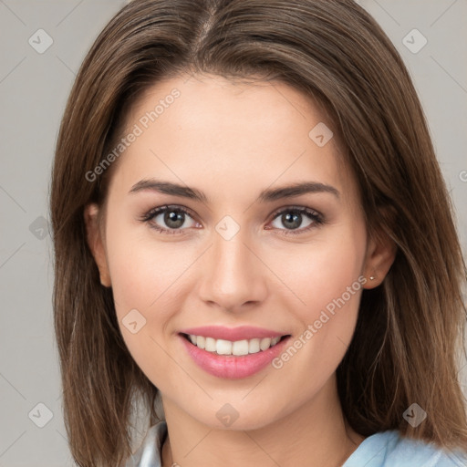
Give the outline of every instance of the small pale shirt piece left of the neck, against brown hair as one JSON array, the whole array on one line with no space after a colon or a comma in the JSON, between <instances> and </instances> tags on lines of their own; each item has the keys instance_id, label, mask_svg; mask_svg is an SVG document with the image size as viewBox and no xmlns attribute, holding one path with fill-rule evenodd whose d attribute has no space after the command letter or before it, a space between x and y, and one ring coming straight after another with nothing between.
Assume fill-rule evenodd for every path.
<instances>
[{"instance_id":1,"label":"small pale shirt piece left of the neck, against brown hair","mask_svg":"<svg viewBox=\"0 0 467 467\"><path fill-rule=\"evenodd\" d=\"M165 420L152 425L138 450L120 467L161 467L161 446L166 436Z\"/></svg>"}]
</instances>

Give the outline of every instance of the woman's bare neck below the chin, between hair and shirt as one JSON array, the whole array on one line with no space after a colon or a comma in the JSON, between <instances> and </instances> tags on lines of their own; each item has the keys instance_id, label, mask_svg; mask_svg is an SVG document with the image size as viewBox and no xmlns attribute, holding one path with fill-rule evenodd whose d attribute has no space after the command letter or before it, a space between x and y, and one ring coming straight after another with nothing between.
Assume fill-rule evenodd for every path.
<instances>
[{"instance_id":1,"label":"woman's bare neck below the chin, between hair and shirt","mask_svg":"<svg viewBox=\"0 0 467 467\"><path fill-rule=\"evenodd\" d=\"M235 429L235 423L228 430L208 426L163 394L162 402L169 434L162 467L341 467L364 440L344 419L335 376L306 404L290 411L290 405L277 406L275 420L251 430Z\"/></svg>"}]
</instances>

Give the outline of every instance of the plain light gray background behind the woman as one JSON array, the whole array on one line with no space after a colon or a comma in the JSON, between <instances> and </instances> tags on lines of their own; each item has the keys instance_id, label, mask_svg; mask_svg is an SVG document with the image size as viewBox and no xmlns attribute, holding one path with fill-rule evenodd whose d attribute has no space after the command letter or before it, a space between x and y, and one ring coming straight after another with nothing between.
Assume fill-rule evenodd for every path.
<instances>
[{"instance_id":1,"label":"plain light gray background behind the woman","mask_svg":"<svg viewBox=\"0 0 467 467\"><path fill-rule=\"evenodd\" d=\"M53 333L49 174L78 67L101 28L125 3L0 0L0 467L72 465ZM467 0L358 3L377 19L410 69L450 187L465 253ZM428 40L417 53L423 39L410 33L414 28ZM38 29L53 39L42 54L28 42ZM47 37L38 34L35 47L43 47ZM464 363L460 377L467 394ZM47 415L52 417L48 422Z\"/></svg>"}]
</instances>

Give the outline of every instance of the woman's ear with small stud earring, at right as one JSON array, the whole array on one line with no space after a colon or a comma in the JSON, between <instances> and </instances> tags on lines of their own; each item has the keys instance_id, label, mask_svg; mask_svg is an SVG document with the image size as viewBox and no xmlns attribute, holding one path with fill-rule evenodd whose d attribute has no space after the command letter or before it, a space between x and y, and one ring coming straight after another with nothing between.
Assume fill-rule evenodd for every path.
<instances>
[{"instance_id":1,"label":"woman's ear with small stud earring, at right","mask_svg":"<svg viewBox=\"0 0 467 467\"><path fill-rule=\"evenodd\" d=\"M379 231L378 235L370 237L363 270L367 278L364 288L374 288L383 282L394 263L396 252L396 244L387 233Z\"/></svg>"}]
</instances>

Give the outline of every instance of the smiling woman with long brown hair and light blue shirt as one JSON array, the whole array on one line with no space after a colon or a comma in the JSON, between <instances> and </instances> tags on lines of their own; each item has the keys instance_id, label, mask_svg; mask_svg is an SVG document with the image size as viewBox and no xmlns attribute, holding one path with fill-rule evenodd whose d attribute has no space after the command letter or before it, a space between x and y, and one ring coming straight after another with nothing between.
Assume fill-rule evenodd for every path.
<instances>
[{"instance_id":1,"label":"smiling woman with long brown hair and light blue shirt","mask_svg":"<svg viewBox=\"0 0 467 467\"><path fill-rule=\"evenodd\" d=\"M68 99L51 213L79 465L465 465L451 202L354 2L130 2Z\"/></svg>"}]
</instances>

